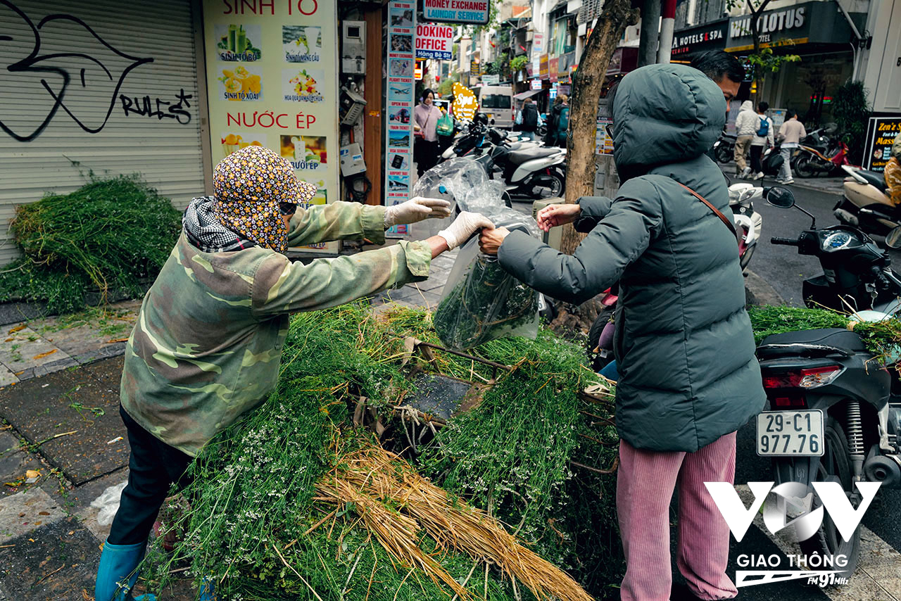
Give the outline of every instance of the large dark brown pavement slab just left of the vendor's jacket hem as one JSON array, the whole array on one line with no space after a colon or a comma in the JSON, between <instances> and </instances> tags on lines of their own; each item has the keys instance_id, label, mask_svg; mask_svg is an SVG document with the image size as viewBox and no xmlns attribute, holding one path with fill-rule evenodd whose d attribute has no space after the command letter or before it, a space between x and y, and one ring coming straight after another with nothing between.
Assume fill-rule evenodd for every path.
<instances>
[{"instance_id":1,"label":"large dark brown pavement slab just left of the vendor's jacket hem","mask_svg":"<svg viewBox=\"0 0 901 601\"><path fill-rule=\"evenodd\" d=\"M63 370L0 391L0 414L32 444L47 441L41 444L41 455L74 484L128 461L127 442L107 444L125 434L118 413L118 381L98 379L98 369L105 368ZM67 432L75 433L47 440Z\"/></svg>"}]
</instances>

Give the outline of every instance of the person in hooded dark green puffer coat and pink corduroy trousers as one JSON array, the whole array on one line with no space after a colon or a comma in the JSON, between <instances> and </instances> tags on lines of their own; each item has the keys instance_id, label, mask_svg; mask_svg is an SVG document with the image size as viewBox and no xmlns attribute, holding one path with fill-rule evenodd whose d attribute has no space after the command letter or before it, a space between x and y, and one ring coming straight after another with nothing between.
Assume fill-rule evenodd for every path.
<instances>
[{"instance_id":1,"label":"person in hooded dark green puffer coat and pink corduroy trousers","mask_svg":"<svg viewBox=\"0 0 901 601\"><path fill-rule=\"evenodd\" d=\"M705 155L725 123L723 90L694 68L651 65L623 77L611 105L619 196L583 196L538 214L544 231L575 223L587 232L574 254L505 228L483 231L479 244L516 278L569 303L619 282L621 598L671 598L669 503L677 487L677 565L689 592L732 598L729 527L704 483L733 482L735 432L766 396L729 193Z\"/></svg>"}]
</instances>

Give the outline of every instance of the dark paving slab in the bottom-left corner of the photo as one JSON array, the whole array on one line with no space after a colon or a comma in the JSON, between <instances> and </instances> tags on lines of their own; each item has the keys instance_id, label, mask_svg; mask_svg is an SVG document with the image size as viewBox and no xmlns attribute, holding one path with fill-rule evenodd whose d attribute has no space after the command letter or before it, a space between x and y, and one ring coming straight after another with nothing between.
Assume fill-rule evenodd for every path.
<instances>
[{"instance_id":1,"label":"dark paving slab in the bottom-left corner of the photo","mask_svg":"<svg viewBox=\"0 0 901 601\"><path fill-rule=\"evenodd\" d=\"M14 546L0 549L0 589L11 598L73 601L93 597L99 542L77 518L42 524L6 544Z\"/></svg>"}]
</instances>

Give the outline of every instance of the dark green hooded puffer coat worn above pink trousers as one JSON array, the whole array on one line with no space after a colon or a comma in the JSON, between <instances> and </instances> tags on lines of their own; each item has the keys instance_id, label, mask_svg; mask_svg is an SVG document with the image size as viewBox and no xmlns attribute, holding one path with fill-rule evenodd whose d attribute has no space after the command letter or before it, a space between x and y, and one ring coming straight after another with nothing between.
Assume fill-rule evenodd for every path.
<instances>
[{"instance_id":1,"label":"dark green hooded puffer coat worn above pink trousers","mask_svg":"<svg viewBox=\"0 0 901 601\"><path fill-rule=\"evenodd\" d=\"M584 197L572 256L513 232L498 256L549 296L582 303L620 282L616 425L633 447L697 451L763 408L735 236L679 183L731 216L704 152L723 129L723 93L699 71L652 65L614 100L619 196Z\"/></svg>"}]
</instances>

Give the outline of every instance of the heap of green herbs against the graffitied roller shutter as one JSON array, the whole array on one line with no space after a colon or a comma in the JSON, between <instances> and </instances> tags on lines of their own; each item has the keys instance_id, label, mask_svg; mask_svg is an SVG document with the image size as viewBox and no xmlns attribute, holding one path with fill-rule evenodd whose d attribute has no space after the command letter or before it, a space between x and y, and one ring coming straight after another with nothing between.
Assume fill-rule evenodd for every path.
<instances>
[{"instance_id":1,"label":"heap of green herbs against the graffitied roller shutter","mask_svg":"<svg viewBox=\"0 0 901 601\"><path fill-rule=\"evenodd\" d=\"M10 231L23 257L0 269L0 302L39 301L50 313L105 300L110 289L141 296L168 259L181 215L136 176L94 179L65 195L15 209Z\"/></svg>"}]
</instances>

